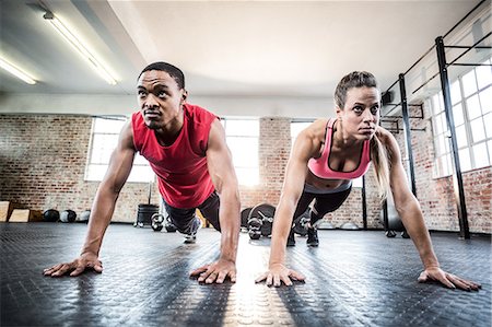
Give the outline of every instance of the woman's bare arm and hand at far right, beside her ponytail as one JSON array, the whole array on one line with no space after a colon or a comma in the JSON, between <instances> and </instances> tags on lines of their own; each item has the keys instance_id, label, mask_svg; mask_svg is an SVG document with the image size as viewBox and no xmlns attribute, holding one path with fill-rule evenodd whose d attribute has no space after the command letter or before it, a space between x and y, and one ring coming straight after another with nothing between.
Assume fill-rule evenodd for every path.
<instances>
[{"instance_id":1,"label":"woman's bare arm and hand at far right, beside her ponytail","mask_svg":"<svg viewBox=\"0 0 492 327\"><path fill-rule=\"evenodd\" d=\"M452 289L458 287L464 290L478 290L480 288L479 284L447 273L440 268L419 201L408 186L398 143L390 132L382 130L382 135L383 143L386 144L390 153L389 182L395 207L424 266L424 271L419 277L419 281L437 280Z\"/></svg>"}]
</instances>

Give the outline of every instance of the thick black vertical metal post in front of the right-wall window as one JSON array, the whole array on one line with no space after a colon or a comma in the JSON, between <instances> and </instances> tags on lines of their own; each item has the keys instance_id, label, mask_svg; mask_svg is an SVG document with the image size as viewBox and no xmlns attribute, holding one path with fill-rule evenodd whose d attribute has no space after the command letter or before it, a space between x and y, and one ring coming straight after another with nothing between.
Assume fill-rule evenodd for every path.
<instances>
[{"instance_id":1,"label":"thick black vertical metal post in front of the right-wall window","mask_svg":"<svg viewBox=\"0 0 492 327\"><path fill-rule=\"evenodd\" d=\"M437 62L440 65L441 87L443 89L444 110L446 113L447 127L450 132L452 154L455 170L453 172L453 186L455 190L455 199L458 209L459 219L459 237L470 238L470 230L468 227L467 207L465 203L465 190L462 187L461 165L459 163L458 143L456 141L455 119L453 116L453 107L450 102L449 80L446 68L446 54L444 51L443 37L435 39L437 50Z\"/></svg>"}]
</instances>

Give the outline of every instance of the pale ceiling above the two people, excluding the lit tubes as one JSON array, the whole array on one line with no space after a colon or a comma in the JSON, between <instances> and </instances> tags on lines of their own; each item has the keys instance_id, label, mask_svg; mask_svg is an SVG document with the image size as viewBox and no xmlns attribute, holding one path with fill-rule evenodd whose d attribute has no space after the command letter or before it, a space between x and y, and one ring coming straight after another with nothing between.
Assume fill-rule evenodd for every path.
<instances>
[{"instance_id":1,"label":"pale ceiling above the two people, excluding the lit tubes","mask_svg":"<svg viewBox=\"0 0 492 327\"><path fill-rule=\"evenodd\" d=\"M2 0L0 55L38 83L0 71L1 96L31 103L0 101L0 112L33 109L33 101L57 96L83 101L87 108L93 102L101 110L106 96L116 104L113 114L118 105L126 113L138 73L157 60L184 70L191 100L222 101L223 115L247 100L277 103L274 115L283 114L289 100L319 101L323 107L353 70L373 72L386 90L479 2ZM61 39L43 19L43 8L86 42L116 85Z\"/></svg>"}]
</instances>

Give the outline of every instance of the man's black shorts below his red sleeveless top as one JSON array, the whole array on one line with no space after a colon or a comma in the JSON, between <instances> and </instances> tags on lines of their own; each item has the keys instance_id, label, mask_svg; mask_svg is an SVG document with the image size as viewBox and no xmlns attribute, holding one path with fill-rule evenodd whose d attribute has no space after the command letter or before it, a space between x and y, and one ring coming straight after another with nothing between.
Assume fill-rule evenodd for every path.
<instances>
[{"instance_id":1,"label":"man's black shorts below his red sleeveless top","mask_svg":"<svg viewBox=\"0 0 492 327\"><path fill-rule=\"evenodd\" d=\"M200 210L203 218L206 218L215 230L221 230L219 221L220 198L216 191L213 191L210 197L208 197L207 200L204 200L203 203L201 203L197 208L180 209L171 207L166 203L166 201L164 201L164 199L163 202L164 208L166 209L166 213L180 233L190 233L192 222L195 220L195 210L197 208Z\"/></svg>"}]
</instances>

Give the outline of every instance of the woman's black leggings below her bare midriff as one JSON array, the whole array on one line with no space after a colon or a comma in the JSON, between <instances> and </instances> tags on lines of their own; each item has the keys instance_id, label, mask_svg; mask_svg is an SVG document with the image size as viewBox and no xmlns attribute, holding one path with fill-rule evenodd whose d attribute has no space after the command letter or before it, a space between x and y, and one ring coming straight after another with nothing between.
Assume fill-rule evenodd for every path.
<instances>
[{"instance_id":1,"label":"woman's black leggings below her bare midriff","mask_svg":"<svg viewBox=\"0 0 492 327\"><path fill-rule=\"evenodd\" d=\"M294 212L294 220L303 214L309 207L313 199L315 199L313 205L314 210L311 210L311 224L313 225L318 220L323 219L328 212L332 212L340 208L340 206L343 205L345 199L349 197L351 190L352 186L349 189L332 194L313 194L303 191L301 198L298 199L297 208Z\"/></svg>"}]
</instances>

